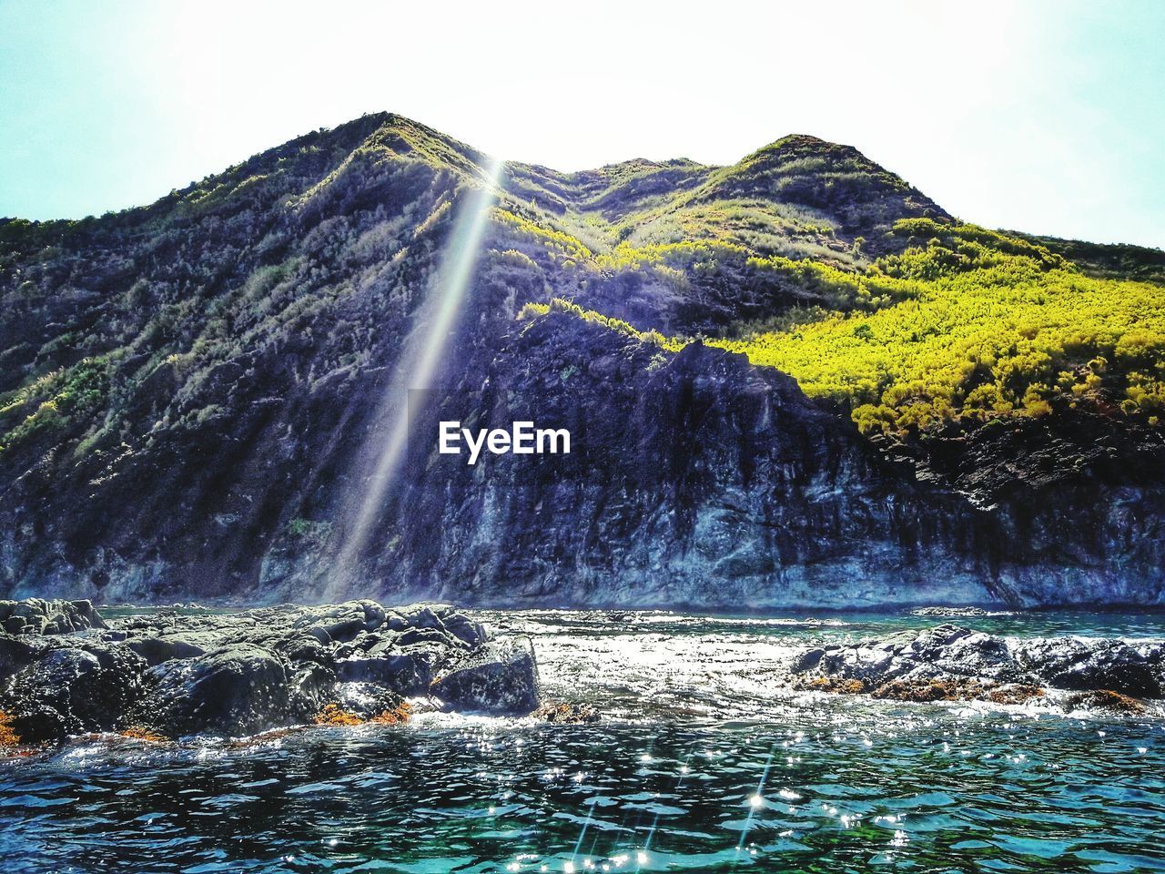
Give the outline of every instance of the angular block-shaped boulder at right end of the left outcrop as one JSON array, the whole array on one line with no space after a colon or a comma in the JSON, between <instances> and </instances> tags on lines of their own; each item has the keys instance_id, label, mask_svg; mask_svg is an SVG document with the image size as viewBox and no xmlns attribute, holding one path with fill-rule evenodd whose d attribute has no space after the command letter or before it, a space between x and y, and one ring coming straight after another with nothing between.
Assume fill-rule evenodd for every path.
<instances>
[{"instance_id":1,"label":"angular block-shaped boulder at right end of the left outcrop","mask_svg":"<svg viewBox=\"0 0 1165 874\"><path fill-rule=\"evenodd\" d=\"M538 667L529 637L489 642L433 681L433 695L458 710L524 716L538 707Z\"/></svg>"}]
</instances>

